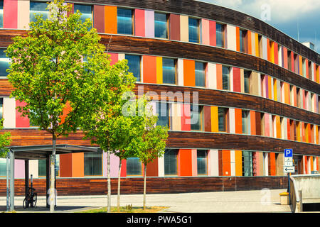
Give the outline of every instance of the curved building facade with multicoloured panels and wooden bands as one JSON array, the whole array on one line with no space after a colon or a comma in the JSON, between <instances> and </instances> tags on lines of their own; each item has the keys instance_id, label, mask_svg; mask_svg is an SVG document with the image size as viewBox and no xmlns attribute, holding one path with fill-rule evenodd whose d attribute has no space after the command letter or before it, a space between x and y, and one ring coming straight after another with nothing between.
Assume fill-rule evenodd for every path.
<instances>
[{"instance_id":1,"label":"curved building facade with multicoloured panels and wooden bands","mask_svg":"<svg viewBox=\"0 0 320 227\"><path fill-rule=\"evenodd\" d=\"M9 98L3 54L12 37L26 33L33 13L48 16L46 4L0 2L4 131L11 131L11 145L50 145L50 135L16 111L23 104ZM286 148L294 151L294 174L319 171L320 55L314 50L257 18L200 1L69 2L83 20L92 19L112 63L128 60L135 92L153 97L158 123L170 128L164 157L147 167L148 193L285 188ZM81 133L58 143L90 146ZM58 195L107 191L105 154L60 155L57 163ZM5 164L0 161L1 183ZM16 160L21 194L24 165ZM112 193L118 165L112 156ZM46 160L31 160L30 173L44 194ZM142 175L137 158L124 160L122 193L141 193Z\"/></svg>"}]
</instances>

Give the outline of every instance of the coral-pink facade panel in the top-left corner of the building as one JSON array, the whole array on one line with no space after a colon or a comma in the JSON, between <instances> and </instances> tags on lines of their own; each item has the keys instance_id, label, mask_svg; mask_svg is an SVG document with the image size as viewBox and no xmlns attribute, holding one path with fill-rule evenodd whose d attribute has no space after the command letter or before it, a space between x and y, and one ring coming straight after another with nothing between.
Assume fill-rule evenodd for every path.
<instances>
[{"instance_id":1,"label":"coral-pink facade panel in the top-left corner of the building","mask_svg":"<svg viewBox=\"0 0 320 227\"><path fill-rule=\"evenodd\" d=\"M18 0L4 0L4 28L18 28Z\"/></svg>"}]
</instances>

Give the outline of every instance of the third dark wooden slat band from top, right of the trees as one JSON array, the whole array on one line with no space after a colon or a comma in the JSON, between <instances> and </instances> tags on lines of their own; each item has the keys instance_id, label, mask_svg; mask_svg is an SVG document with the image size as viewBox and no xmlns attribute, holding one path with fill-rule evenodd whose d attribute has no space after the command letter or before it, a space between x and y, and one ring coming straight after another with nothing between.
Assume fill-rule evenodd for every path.
<instances>
[{"instance_id":1,"label":"third dark wooden slat band from top, right of the trees","mask_svg":"<svg viewBox=\"0 0 320 227\"><path fill-rule=\"evenodd\" d=\"M198 92L198 103L202 105L229 106L240 109L250 109L320 125L319 114L315 114L310 111L305 111L304 109L299 109L294 106L289 106L287 104L282 104L278 101L265 99L259 96L252 96L235 92L225 92L213 89L200 89L192 87L178 87L155 84L137 84L135 87L136 93L138 93L139 87L140 89L142 89L143 87L144 92L156 92L156 94L159 94L159 100L161 92L167 92L168 101L178 101L176 96L173 96L174 94L178 94L176 92L181 92L183 98L185 96L185 92L189 92L190 101L192 102L193 92Z\"/></svg>"}]
</instances>

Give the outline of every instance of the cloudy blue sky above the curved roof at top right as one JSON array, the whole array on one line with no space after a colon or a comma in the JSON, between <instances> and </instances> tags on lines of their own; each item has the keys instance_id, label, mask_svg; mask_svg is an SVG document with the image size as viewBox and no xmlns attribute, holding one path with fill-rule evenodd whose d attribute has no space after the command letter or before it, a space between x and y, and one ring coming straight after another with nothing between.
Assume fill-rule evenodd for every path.
<instances>
[{"instance_id":1,"label":"cloudy blue sky above the curved roof at top right","mask_svg":"<svg viewBox=\"0 0 320 227\"><path fill-rule=\"evenodd\" d=\"M234 9L269 23L320 53L320 0L198 0ZM298 35L299 31L299 35Z\"/></svg>"}]
</instances>

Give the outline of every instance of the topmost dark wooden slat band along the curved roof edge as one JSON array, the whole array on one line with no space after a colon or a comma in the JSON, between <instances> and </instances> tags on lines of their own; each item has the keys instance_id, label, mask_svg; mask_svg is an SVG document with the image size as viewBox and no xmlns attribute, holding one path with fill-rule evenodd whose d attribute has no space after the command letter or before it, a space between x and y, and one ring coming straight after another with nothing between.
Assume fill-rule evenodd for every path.
<instances>
[{"instance_id":1,"label":"topmost dark wooden slat band along the curved roof edge","mask_svg":"<svg viewBox=\"0 0 320 227\"><path fill-rule=\"evenodd\" d=\"M234 11L222 6L207 4L201 1L193 0L78 0L79 2L88 4L105 4L114 6L128 6L139 9L151 9L154 11L166 11L170 13L178 13L188 16L196 16L199 18L207 18L213 21L229 23L234 26L247 28L250 31L265 35L267 38L274 40L280 45L297 52L299 55L308 58L320 65L320 55L297 40L290 38L282 31L273 28L269 24L260 21L257 18L249 16L239 11ZM248 19L250 18L250 20Z\"/></svg>"}]
</instances>

